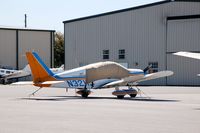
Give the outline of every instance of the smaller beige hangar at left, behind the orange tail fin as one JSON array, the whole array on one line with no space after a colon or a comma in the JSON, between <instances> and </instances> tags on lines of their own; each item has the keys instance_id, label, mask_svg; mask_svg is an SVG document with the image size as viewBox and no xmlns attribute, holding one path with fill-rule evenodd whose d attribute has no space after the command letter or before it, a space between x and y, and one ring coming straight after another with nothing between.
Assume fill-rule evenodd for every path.
<instances>
[{"instance_id":1,"label":"smaller beige hangar at left, behind the orange tail fin","mask_svg":"<svg viewBox=\"0 0 200 133\"><path fill-rule=\"evenodd\" d=\"M0 66L23 69L25 52L37 51L45 63L53 65L54 30L0 27Z\"/></svg>"}]
</instances>

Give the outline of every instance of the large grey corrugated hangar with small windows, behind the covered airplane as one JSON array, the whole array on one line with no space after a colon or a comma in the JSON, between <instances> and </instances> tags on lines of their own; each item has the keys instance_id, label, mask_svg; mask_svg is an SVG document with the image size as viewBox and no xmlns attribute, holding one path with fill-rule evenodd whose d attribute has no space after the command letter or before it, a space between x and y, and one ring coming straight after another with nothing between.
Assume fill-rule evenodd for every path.
<instances>
[{"instance_id":1,"label":"large grey corrugated hangar with small windows, behind the covered airplane","mask_svg":"<svg viewBox=\"0 0 200 133\"><path fill-rule=\"evenodd\" d=\"M144 85L200 85L200 61L172 55L200 52L199 0L165 0L64 21L65 67L112 60L129 68L172 70Z\"/></svg>"}]
</instances>

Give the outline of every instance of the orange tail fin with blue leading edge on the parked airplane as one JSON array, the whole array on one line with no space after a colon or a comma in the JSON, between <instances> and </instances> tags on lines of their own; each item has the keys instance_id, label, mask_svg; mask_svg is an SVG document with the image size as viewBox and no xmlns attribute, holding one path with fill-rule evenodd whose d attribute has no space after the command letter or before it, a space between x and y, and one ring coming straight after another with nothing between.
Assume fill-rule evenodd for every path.
<instances>
[{"instance_id":1,"label":"orange tail fin with blue leading edge on the parked airplane","mask_svg":"<svg viewBox=\"0 0 200 133\"><path fill-rule=\"evenodd\" d=\"M27 52L26 57L32 71L34 83L56 80L53 76L54 73L45 65L36 52Z\"/></svg>"}]
</instances>

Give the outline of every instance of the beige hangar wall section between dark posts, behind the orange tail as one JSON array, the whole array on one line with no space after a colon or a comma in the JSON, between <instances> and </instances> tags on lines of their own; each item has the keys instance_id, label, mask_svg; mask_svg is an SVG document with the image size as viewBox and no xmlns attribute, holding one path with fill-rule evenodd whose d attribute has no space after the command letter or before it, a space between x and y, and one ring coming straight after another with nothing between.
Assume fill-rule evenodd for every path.
<instances>
[{"instance_id":1,"label":"beige hangar wall section between dark posts, behind the orange tail","mask_svg":"<svg viewBox=\"0 0 200 133\"><path fill-rule=\"evenodd\" d=\"M38 52L44 62L51 66L51 32L19 31L19 69L27 65L25 53Z\"/></svg>"}]
</instances>

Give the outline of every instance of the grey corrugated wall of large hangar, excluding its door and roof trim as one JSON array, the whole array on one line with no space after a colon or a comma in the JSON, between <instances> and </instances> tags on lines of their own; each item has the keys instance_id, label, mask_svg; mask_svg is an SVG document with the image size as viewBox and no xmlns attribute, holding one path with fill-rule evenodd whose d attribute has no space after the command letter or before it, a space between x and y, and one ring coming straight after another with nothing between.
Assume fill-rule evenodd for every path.
<instances>
[{"instance_id":1,"label":"grey corrugated wall of large hangar, excluding its door and roof trim","mask_svg":"<svg viewBox=\"0 0 200 133\"><path fill-rule=\"evenodd\" d=\"M169 2L65 23L65 66L103 61L102 50L109 49L109 60L127 62L130 68L158 62L159 70L165 70L167 17L188 14L200 14L200 3ZM118 59L119 49L126 51L124 60ZM165 85L166 79L144 84Z\"/></svg>"}]
</instances>

